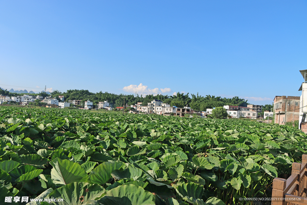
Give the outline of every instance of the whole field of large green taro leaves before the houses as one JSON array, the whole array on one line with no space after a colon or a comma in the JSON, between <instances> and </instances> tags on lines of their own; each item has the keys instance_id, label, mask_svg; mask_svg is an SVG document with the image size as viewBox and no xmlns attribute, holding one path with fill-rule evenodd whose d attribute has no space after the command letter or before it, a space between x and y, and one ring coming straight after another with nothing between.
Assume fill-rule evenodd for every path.
<instances>
[{"instance_id":1,"label":"whole field of large green taro leaves before the houses","mask_svg":"<svg viewBox=\"0 0 307 205\"><path fill-rule=\"evenodd\" d=\"M1 106L0 204L253 204L239 198L270 197L306 150L247 120Z\"/></svg>"}]
</instances>

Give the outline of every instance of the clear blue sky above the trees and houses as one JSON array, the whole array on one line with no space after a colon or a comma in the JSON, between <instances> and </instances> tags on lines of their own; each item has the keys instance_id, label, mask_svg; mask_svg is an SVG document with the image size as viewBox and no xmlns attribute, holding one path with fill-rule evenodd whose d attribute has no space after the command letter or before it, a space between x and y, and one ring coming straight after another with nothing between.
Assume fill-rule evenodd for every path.
<instances>
[{"instance_id":1,"label":"clear blue sky above the trees and houses","mask_svg":"<svg viewBox=\"0 0 307 205\"><path fill-rule=\"evenodd\" d=\"M271 104L300 96L306 10L307 1L0 1L0 87Z\"/></svg>"}]
</instances>

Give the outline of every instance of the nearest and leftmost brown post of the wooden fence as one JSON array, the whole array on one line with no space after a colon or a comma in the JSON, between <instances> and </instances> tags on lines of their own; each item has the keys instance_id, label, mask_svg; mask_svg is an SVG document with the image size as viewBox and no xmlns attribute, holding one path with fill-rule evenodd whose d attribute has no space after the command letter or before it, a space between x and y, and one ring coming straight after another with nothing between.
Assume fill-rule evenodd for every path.
<instances>
[{"instance_id":1,"label":"nearest and leftmost brown post of the wooden fence","mask_svg":"<svg viewBox=\"0 0 307 205\"><path fill-rule=\"evenodd\" d=\"M283 205L284 190L286 189L286 179L273 179L272 203L271 205Z\"/></svg>"}]
</instances>

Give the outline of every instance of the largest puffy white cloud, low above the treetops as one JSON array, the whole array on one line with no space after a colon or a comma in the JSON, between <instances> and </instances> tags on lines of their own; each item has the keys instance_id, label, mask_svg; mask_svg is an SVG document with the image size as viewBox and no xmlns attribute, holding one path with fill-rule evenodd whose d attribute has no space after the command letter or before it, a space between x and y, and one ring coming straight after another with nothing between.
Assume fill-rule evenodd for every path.
<instances>
[{"instance_id":1,"label":"largest puffy white cloud, low above the treetops","mask_svg":"<svg viewBox=\"0 0 307 205\"><path fill-rule=\"evenodd\" d=\"M140 85L129 85L129 86L125 86L123 88L124 91L128 92L128 93L138 93L139 95L151 95L153 94L154 96L161 94L161 93L170 93L172 92L172 90L170 88L164 88L164 89L158 89L158 88L154 88L154 89L150 89L148 88L147 85L143 85L142 83L140 83Z\"/></svg>"}]
</instances>

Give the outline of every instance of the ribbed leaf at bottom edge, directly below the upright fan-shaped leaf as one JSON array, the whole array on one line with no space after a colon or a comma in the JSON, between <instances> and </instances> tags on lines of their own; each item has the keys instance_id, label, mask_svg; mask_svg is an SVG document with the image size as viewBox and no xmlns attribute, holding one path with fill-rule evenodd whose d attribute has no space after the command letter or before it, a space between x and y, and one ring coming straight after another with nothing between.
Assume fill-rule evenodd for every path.
<instances>
[{"instance_id":1,"label":"ribbed leaf at bottom edge, directly below the upright fan-shaped leaf","mask_svg":"<svg viewBox=\"0 0 307 205\"><path fill-rule=\"evenodd\" d=\"M63 202L51 202L56 205L81 205L91 204L91 201L100 199L105 194L106 190L98 184L74 182L50 192L45 199L64 199Z\"/></svg>"}]
</instances>

